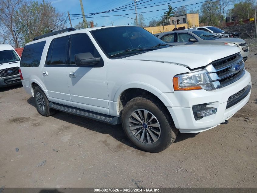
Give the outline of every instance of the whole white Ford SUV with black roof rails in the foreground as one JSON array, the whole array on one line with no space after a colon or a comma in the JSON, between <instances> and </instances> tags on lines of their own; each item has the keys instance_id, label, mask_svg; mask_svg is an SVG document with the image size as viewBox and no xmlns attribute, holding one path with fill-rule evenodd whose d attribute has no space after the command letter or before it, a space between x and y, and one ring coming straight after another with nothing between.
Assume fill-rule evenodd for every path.
<instances>
[{"instance_id":1,"label":"whole white Ford SUV with black roof rails in the foreground","mask_svg":"<svg viewBox=\"0 0 257 193\"><path fill-rule=\"evenodd\" d=\"M43 116L56 109L122 123L137 147L160 152L178 131L227 123L249 100L238 47L171 47L134 26L64 31L35 38L21 59L23 87Z\"/></svg>"}]
</instances>

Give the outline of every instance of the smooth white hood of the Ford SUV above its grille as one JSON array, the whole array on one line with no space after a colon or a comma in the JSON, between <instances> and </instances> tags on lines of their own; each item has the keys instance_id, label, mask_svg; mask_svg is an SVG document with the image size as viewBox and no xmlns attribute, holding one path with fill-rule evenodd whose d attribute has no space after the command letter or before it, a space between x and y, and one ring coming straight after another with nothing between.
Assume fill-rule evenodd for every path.
<instances>
[{"instance_id":1,"label":"smooth white hood of the Ford SUV above its grille","mask_svg":"<svg viewBox=\"0 0 257 193\"><path fill-rule=\"evenodd\" d=\"M126 60L175 63L190 69L206 66L214 60L240 52L238 47L223 45L180 45L129 56Z\"/></svg>"}]
</instances>

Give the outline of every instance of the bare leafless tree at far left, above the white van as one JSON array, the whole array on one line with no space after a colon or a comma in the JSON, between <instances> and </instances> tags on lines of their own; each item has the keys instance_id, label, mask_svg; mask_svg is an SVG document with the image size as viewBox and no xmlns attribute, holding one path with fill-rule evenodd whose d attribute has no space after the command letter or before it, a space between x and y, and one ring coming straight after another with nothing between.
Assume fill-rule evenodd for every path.
<instances>
[{"instance_id":1,"label":"bare leafless tree at far left, above the white van","mask_svg":"<svg viewBox=\"0 0 257 193\"><path fill-rule=\"evenodd\" d=\"M24 4L23 0L0 0L0 26L1 37L4 43L8 42L19 48L21 43L21 30L17 27L17 10Z\"/></svg>"}]
</instances>

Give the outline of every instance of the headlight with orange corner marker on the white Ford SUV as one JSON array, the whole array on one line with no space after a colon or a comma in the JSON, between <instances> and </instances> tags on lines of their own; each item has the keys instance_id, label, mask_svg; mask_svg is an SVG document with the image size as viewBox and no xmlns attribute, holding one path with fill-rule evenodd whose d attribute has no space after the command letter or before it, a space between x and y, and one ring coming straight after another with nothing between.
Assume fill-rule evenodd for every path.
<instances>
[{"instance_id":1,"label":"headlight with orange corner marker on the white Ford SUV","mask_svg":"<svg viewBox=\"0 0 257 193\"><path fill-rule=\"evenodd\" d=\"M210 91L214 89L205 70L173 77L173 87L175 91L199 89Z\"/></svg>"}]
</instances>

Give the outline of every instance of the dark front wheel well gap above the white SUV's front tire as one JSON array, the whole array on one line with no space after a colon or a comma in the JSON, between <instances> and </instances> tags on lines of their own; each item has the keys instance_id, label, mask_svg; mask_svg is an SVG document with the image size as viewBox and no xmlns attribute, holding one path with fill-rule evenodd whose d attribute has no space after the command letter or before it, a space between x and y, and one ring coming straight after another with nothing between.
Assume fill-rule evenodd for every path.
<instances>
[{"instance_id":1,"label":"dark front wheel well gap above the white SUV's front tire","mask_svg":"<svg viewBox=\"0 0 257 193\"><path fill-rule=\"evenodd\" d=\"M156 100L160 101L163 104L163 102L157 96L155 96L154 94L152 94L149 91L146 91L141 88L129 88L129 89L123 91L120 95L120 98L118 100L119 112L122 113L122 110L124 109L124 106L127 104L127 102L129 102L132 98L138 97L140 95L148 95L148 96L150 95L153 98L156 98Z\"/></svg>"}]
</instances>

